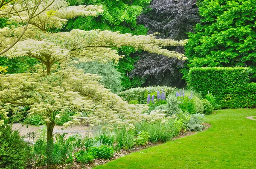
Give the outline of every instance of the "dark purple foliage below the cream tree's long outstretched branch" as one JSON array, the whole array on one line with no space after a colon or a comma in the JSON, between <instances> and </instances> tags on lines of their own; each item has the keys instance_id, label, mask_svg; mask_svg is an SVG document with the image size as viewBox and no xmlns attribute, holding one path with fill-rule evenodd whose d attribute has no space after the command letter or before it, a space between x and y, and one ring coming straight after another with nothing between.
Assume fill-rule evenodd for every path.
<instances>
[{"instance_id":1,"label":"dark purple foliage below the cream tree's long outstretched branch","mask_svg":"<svg viewBox=\"0 0 256 169\"><path fill-rule=\"evenodd\" d=\"M182 67L184 61L167 58L157 54L140 54L140 59L135 63L134 70L131 71L131 77L146 78L147 86L175 86L183 87L184 80L177 67Z\"/></svg>"}]
</instances>

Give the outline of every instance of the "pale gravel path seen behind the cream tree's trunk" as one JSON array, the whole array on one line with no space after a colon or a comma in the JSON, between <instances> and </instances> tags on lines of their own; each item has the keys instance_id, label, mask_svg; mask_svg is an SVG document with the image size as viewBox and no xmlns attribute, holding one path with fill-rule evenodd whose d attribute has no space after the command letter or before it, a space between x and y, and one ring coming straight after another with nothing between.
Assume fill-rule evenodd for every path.
<instances>
[{"instance_id":1,"label":"pale gravel path seen behind the cream tree's trunk","mask_svg":"<svg viewBox=\"0 0 256 169\"><path fill-rule=\"evenodd\" d=\"M29 138L27 138L29 132L36 132L37 133L36 135L38 137L40 135L40 133L42 132L42 130L44 130L44 127L45 126L32 126L30 124L28 124L28 127L27 127L26 124L23 125L20 123L12 125L13 130L19 130L20 136L25 136L25 139L24 139L25 141L29 140ZM90 128L88 126L82 126L82 125L81 126L80 125L72 126L72 127L66 128L66 129L64 129L63 126L55 126L53 129L53 134L67 133L66 136L68 137L70 135L76 135L76 133L79 133L84 137L86 135L90 135L92 131L93 130L90 130Z\"/></svg>"}]
</instances>

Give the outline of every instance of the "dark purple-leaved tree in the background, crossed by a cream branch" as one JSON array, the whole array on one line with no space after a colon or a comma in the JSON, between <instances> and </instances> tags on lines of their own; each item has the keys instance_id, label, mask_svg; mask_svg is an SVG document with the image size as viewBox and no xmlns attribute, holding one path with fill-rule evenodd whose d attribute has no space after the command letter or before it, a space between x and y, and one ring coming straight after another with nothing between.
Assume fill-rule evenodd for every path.
<instances>
[{"instance_id":1,"label":"dark purple-leaved tree in the background, crossed by a cream branch","mask_svg":"<svg viewBox=\"0 0 256 169\"><path fill-rule=\"evenodd\" d=\"M148 34L159 32L157 37L163 39L187 39L187 33L199 22L195 4L196 0L152 0L147 12L138 17L138 23L148 28ZM169 50L184 53L182 46ZM183 65L184 62L174 58L143 53L131 74L148 76L146 85L182 87L184 81L179 70Z\"/></svg>"}]
</instances>

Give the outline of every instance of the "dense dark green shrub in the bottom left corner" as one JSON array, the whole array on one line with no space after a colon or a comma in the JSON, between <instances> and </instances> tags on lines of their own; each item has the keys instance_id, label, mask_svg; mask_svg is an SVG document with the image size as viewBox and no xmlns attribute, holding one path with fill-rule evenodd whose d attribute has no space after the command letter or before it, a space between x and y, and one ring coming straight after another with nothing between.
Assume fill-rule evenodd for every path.
<instances>
[{"instance_id":1,"label":"dense dark green shrub in the bottom left corner","mask_svg":"<svg viewBox=\"0 0 256 169\"><path fill-rule=\"evenodd\" d=\"M0 168L22 169L26 166L27 144L11 124L0 125Z\"/></svg>"}]
</instances>

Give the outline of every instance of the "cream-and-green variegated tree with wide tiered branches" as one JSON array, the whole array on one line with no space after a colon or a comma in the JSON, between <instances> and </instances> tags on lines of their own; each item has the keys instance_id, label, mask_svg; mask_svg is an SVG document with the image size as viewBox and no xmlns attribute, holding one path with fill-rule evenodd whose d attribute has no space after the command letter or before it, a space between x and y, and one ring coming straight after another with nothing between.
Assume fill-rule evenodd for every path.
<instances>
[{"instance_id":1,"label":"cream-and-green variegated tree with wide tiered branches","mask_svg":"<svg viewBox=\"0 0 256 169\"><path fill-rule=\"evenodd\" d=\"M35 0L34 0L35 1ZM27 0L27 3L33 0ZM82 31L51 33L53 28L62 28L68 18L97 16L102 6L69 6L64 0L44 1L38 9L44 9L31 17L29 9L19 6L20 12L9 14L9 20L16 23L12 28L0 29L0 47L9 45L20 37L24 21L29 25L23 36L3 56L15 58L28 56L41 63L36 72L4 74L0 79L0 113L6 116L19 113L23 106L29 106L29 115L39 114L47 126L47 141L51 141L55 119L70 111L76 114L65 125L80 123L105 124L106 127L122 125L127 130L134 128L136 121L166 121L160 112L143 114L143 106L129 105L116 94L105 89L98 81L100 76L84 74L72 62L99 61L118 62L123 57L115 50L129 46L150 53L162 54L177 59L186 59L183 54L168 51L162 47L185 45L186 41L157 39L154 35L132 36L112 31ZM50 5L48 6L48 3ZM48 6L45 9L45 6ZM17 6L16 6L17 7ZM76 58L76 59L75 59Z\"/></svg>"}]
</instances>

